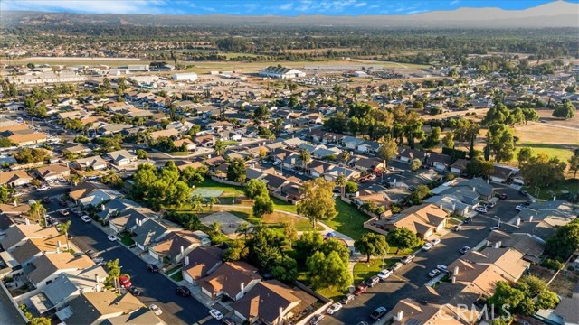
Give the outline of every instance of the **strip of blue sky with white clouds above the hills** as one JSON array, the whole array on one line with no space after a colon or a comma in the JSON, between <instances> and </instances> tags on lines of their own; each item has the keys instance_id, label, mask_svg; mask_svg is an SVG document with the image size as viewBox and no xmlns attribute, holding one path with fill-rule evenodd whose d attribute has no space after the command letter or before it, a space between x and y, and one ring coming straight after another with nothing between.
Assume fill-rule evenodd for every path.
<instances>
[{"instance_id":1,"label":"strip of blue sky with white clouds above the hills","mask_svg":"<svg viewBox=\"0 0 579 325\"><path fill-rule=\"evenodd\" d=\"M0 10L81 14L418 14L460 7L526 9L552 0L0 0ZM577 3L579 0L571 0Z\"/></svg>"}]
</instances>

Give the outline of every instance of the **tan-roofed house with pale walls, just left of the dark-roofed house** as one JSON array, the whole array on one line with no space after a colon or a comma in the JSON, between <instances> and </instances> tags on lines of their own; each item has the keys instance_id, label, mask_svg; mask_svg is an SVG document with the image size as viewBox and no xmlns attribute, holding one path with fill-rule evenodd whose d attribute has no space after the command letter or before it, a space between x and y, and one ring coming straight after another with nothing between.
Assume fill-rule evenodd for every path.
<instances>
[{"instance_id":1,"label":"tan-roofed house with pale walls, just left of the dark-roofed house","mask_svg":"<svg viewBox=\"0 0 579 325\"><path fill-rule=\"evenodd\" d=\"M157 239L155 245L149 247L148 254L159 262L168 259L171 263L178 263L196 247L211 243L208 235L204 234L203 237L200 237L198 236L199 233L204 234L201 231L196 233L189 230L172 231Z\"/></svg>"}]
</instances>

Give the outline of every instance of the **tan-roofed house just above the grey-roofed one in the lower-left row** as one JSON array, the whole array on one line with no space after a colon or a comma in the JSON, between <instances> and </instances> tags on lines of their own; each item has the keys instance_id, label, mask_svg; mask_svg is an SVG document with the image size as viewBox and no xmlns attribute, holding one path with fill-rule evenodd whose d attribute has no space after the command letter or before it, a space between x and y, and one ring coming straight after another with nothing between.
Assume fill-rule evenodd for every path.
<instances>
[{"instance_id":1,"label":"tan-roofed house just above the grey-roofed one in the lower-left row","mask_svg":"<svg viewBox=\"0 0 579 325\"><path fill-rule=\"evenodd\" d=\"M74 256L69 252L62 252L37 257L24 272L34 287L42 290L56 280L59 274L80 271L93 265L94 262L87 255Z\"/></svg>"}]
</instances>

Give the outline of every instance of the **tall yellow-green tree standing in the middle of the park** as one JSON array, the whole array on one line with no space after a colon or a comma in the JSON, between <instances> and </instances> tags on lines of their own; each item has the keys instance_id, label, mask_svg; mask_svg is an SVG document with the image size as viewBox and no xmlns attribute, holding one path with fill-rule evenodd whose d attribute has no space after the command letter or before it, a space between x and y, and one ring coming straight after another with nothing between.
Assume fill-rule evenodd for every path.
<instances>
[{"instance_id":1,"label":"tall yellow-green tree standing in the middle of the park","mask_svg":"<svg viewBox=\"0 0 579 325\"><path fill-rule=\"evenodd\" d=\"M337 216L336 201L332 194L334 187L334 182L323 178L302 184L304 199L298 203L298 214L308 217L314 228L319 219L331 220Z\"/></svg>"}]
</instances>

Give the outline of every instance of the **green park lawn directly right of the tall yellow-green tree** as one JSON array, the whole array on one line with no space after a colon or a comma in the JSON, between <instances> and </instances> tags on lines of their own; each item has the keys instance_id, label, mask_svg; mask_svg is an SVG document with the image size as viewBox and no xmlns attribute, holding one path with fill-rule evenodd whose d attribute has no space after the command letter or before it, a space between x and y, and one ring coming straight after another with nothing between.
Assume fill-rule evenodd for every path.
<instances>
[{"instance_id":1,"label":"green park lawn directly right of the tall yellow-green tree","mask_svg":"<svg viewBox=\"0 0 579 325\"><path fill-rule=\"evenodd\" d=\"M321 220L321 222L337 232L352 237L354 240L360 239L369 232L368 229L364 228L364 222L369 219L365 213L339 198L336 200L336 209L336 218L332 220Z\"/></svg>"}]
</instances>

